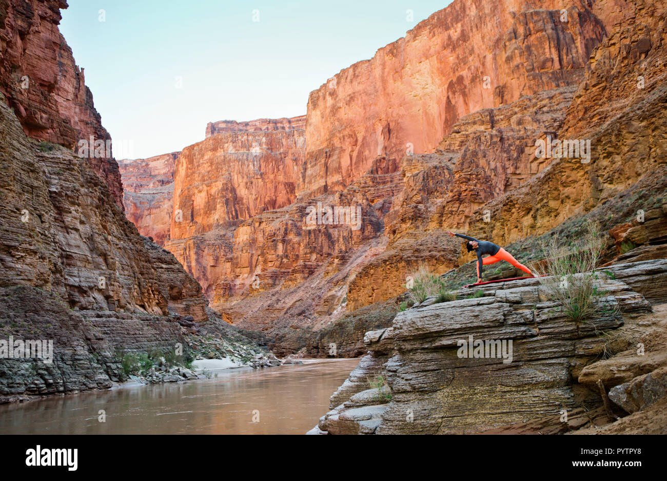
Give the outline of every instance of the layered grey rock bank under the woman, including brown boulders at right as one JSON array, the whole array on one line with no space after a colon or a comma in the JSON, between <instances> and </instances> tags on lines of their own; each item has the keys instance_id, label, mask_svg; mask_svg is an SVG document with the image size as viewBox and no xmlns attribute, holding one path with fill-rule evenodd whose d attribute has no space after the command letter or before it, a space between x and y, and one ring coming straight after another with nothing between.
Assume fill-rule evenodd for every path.
<instances>
[{"instance_id":1,"label":"layered grey rock bank under the woman, including brown boulders at right","mask_svg":"<svg viewBox=\"0 0 667 481\"><path fill-rule=\"evenodd\" d=\"M557 433L646 417L666 395L667 316L641 292L667 287L667 259L598 275L608 292L600 302L617 309L581 323L536 279L463 288L458 300L428 298L398 313L392 327L366 333L368 354L311 433ZM505 350L462 356L471 338L512 341L509 361ZM664 432L666 424L634 428Z\"/></svg>"}]
</instances>

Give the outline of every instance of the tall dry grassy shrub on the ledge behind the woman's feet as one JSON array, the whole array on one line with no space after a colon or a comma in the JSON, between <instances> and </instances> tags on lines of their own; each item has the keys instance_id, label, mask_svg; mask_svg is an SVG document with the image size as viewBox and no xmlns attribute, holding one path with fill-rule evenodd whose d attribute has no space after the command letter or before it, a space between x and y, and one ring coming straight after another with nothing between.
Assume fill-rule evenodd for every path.
<instances>
[{"instance_id":1,"label":"tall dry grassy shrub on the ledge behind the woman's feet","mask_svg":"<svg viewBox=\"0 0 667 481\"><path fill-rule=\"evenodd\" d=\"M616 307L601 302L608 292L598 286L595 269L603 248L600 227L589 222L582 242L570 248L552 237L544 248L545 264L533 266L533 272L540 276L540 284L546 288L548 296L558 302L564 314L574 322L614 314L616 310Z\"/></svg>"}]
</instances>

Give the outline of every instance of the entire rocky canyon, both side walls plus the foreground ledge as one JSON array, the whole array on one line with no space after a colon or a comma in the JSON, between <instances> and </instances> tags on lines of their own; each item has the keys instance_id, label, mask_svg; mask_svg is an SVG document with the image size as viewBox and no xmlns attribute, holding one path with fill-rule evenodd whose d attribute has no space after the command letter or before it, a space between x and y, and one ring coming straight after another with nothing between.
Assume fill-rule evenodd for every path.
<instances>
[{"instance_id":1,"label":"entire rocky canyon, both side walls plus the foreground ledge","mask_svg":"<svg viewBox=\"0 0 667 481\"><path fill-rule=\"evenodd\" d=\"M73 151L110 136L65 7L0 0L0 328L55 346L52 365L0 359L0 400L109 388L128 351L179 345L362 356L313 434L627 432L606 401L624 419L662 406L664 0L455 0L305 115L211 121L180 151L119 161ZM543 155L554 139L590 155ZM583 323L537 279L464 287L473 254L447 235L533 265L588 221L613 309ZM456 297L407 306L420 266ZM485 280L516 275L493 267ZM512 362L462 360L468 336L512 340Z\"/></svg>"}]
</instances>

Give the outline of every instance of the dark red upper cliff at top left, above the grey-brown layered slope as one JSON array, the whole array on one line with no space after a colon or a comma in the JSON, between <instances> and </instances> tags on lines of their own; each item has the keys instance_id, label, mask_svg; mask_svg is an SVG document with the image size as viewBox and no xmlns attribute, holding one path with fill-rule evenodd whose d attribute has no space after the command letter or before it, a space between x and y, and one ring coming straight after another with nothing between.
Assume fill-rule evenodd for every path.
<instances>
[{"instance_id":1,"label":"dark red upper cliff at top left, above the grey-brown layered slope","mask_svg":"<svg viewBox=\"0 0 667 481\"><path fill-rule=\"evenodd\" d=\"M0 92L23 131L72 149L81 139L111 139L85 86L83 69L58 30L67 2L0 0ZM118 165L110 155L87 157L123 206Z\"/></svg>"}]
</instances>

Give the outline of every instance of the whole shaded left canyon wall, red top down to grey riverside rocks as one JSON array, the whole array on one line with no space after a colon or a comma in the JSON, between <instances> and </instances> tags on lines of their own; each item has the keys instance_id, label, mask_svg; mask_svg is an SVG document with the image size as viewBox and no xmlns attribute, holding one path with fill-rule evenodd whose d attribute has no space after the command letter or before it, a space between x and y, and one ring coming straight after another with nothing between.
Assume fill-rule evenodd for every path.
<instances>
[{"instance_id":1,"label":"whole shaded left canyon wall, red top down to grey riverside rocks","mask_svg":"<svg viewBox=\"0 0 667 481\"><path fill-rule=\"evenodd\" d=\"M48 363L3 354L0 402L111 388L135 354L262 352L125 217L115 159L73 151L109 136L58 31L65 7L0 2L0 332L53 342Z\"/></svg>"}]
</instances>

